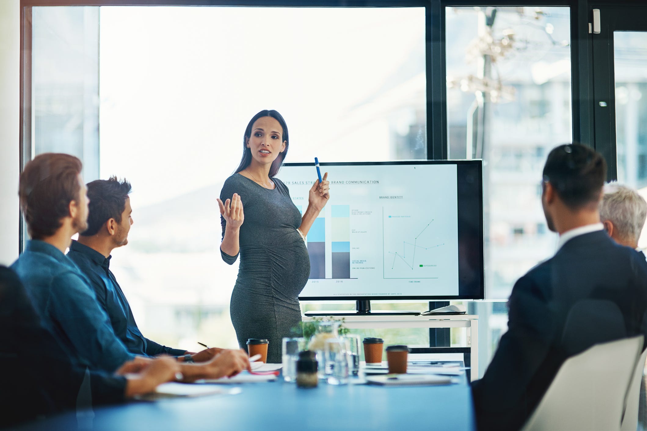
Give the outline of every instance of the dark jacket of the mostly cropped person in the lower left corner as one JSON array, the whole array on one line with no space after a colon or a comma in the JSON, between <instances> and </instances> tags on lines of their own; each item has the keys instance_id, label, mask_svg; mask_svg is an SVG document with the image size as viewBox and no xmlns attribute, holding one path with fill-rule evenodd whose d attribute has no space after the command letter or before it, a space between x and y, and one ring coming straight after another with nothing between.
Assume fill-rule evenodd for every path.
<instances>
[{"instance_id":1,"label":"dark jacket of the mostly cropped person in the lower left corner","mask_svg":"<svg viewBox=\"0 0 647 431\"><path fill-rule=\"evenodd\" d=\"M75 362L45 328L16 273L0 266L0 428L124 400L124 377L86 372Z\"/></svg>"}]
</instances>

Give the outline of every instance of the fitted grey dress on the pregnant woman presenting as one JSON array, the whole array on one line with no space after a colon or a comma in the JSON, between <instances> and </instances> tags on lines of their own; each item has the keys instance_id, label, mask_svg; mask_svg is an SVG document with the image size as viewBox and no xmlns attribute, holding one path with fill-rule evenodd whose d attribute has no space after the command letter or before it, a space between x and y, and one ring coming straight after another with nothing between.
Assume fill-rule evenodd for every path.
<instances>
[{"instance_id":1,"label":"fitted grey dress on the pregnant woman presenting","mask_svg":"<svg viewBox=\"0 0 647 431\"><path fill-rule=\"evenodd\" d=\"M267 338L269 363L281 362L281 339L301 322L299 293L310 275L310 259L296 229L301 213L288 188L272 178L276 187L265 189L241 174L225 181L220 199L241 196L245 220L240 229L241 257L230 313L238 344L247 350L247 339ZM223 237L226 221L221 216ZM236 262L221 250L228 264Z\"/></svg>"}]
</instances>

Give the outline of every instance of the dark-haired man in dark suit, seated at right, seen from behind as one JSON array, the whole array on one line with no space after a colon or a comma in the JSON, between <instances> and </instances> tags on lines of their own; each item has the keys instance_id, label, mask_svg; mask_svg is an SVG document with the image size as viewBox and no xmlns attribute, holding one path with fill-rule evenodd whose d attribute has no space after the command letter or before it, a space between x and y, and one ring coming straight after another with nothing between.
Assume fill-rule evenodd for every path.
<instances>
[{"instance_id":1,"label":"dark-haired man in dark suit, seated at right, seen from behind","mask_svg":"<svg viewBox=\"0 0 647 431\"><path fill-rule=\"evenodd\" d=\"M647 310L644 257L615 243L600 223L606 178L600 154L584 145L560 145L543 168L542 206L558 250L521 277L508 302L508 331L483 379L472 384L477 426L518 430L573 352L562 339L567 315L583 299L609 300L624 317L624 335L637 335ZM600 328L582 334L580 351L609 341Z\"/></svg>"}]
</instances>

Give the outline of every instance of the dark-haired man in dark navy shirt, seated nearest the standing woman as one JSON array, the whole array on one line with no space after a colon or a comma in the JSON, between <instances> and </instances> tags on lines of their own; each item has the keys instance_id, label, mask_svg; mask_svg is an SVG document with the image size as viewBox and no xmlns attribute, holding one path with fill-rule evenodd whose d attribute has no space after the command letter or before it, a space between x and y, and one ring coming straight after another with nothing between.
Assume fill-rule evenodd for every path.
<instances>
[{"instance_id":1,"label":"dark-haired man in dark navy shirt, seated nearest the standing woman","mask_svg":"<svg viewBox=\"0 0 647 431\"><path fill-rule=\"evenodd\" d=\"M87 229L80 233L78 241L72 241L67 257L89 279L99 304L110 318L115 335L131 353L147 356L166 353L180 356L181 361L208 361L221 349L186 352L145 338L137 328L126 295L110 270L110 253L116 247L128 244L128 233L133 224L130 191L131 185L126 180L119 181L114 176L87 184L90 198Z\"/></svg>"}]
</instances>

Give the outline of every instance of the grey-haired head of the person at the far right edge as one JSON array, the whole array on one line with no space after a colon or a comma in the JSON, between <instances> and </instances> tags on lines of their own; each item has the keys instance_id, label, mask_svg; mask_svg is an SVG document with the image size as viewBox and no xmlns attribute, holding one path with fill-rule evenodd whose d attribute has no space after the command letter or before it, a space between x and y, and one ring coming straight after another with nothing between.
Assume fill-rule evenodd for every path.
<instances>
[{"instance_id":1,"label":"grey-haired head of the person at the far right edge","mask_svg":"<svg viewBox=\"0 0 647 431\"><path fill-rule=\"evenodd\" d=\"M638 249L638 238L646 217L647 202L637 191L617 182L604 185L600 221L615 242Z\"/></svg>"}]
</instances>

